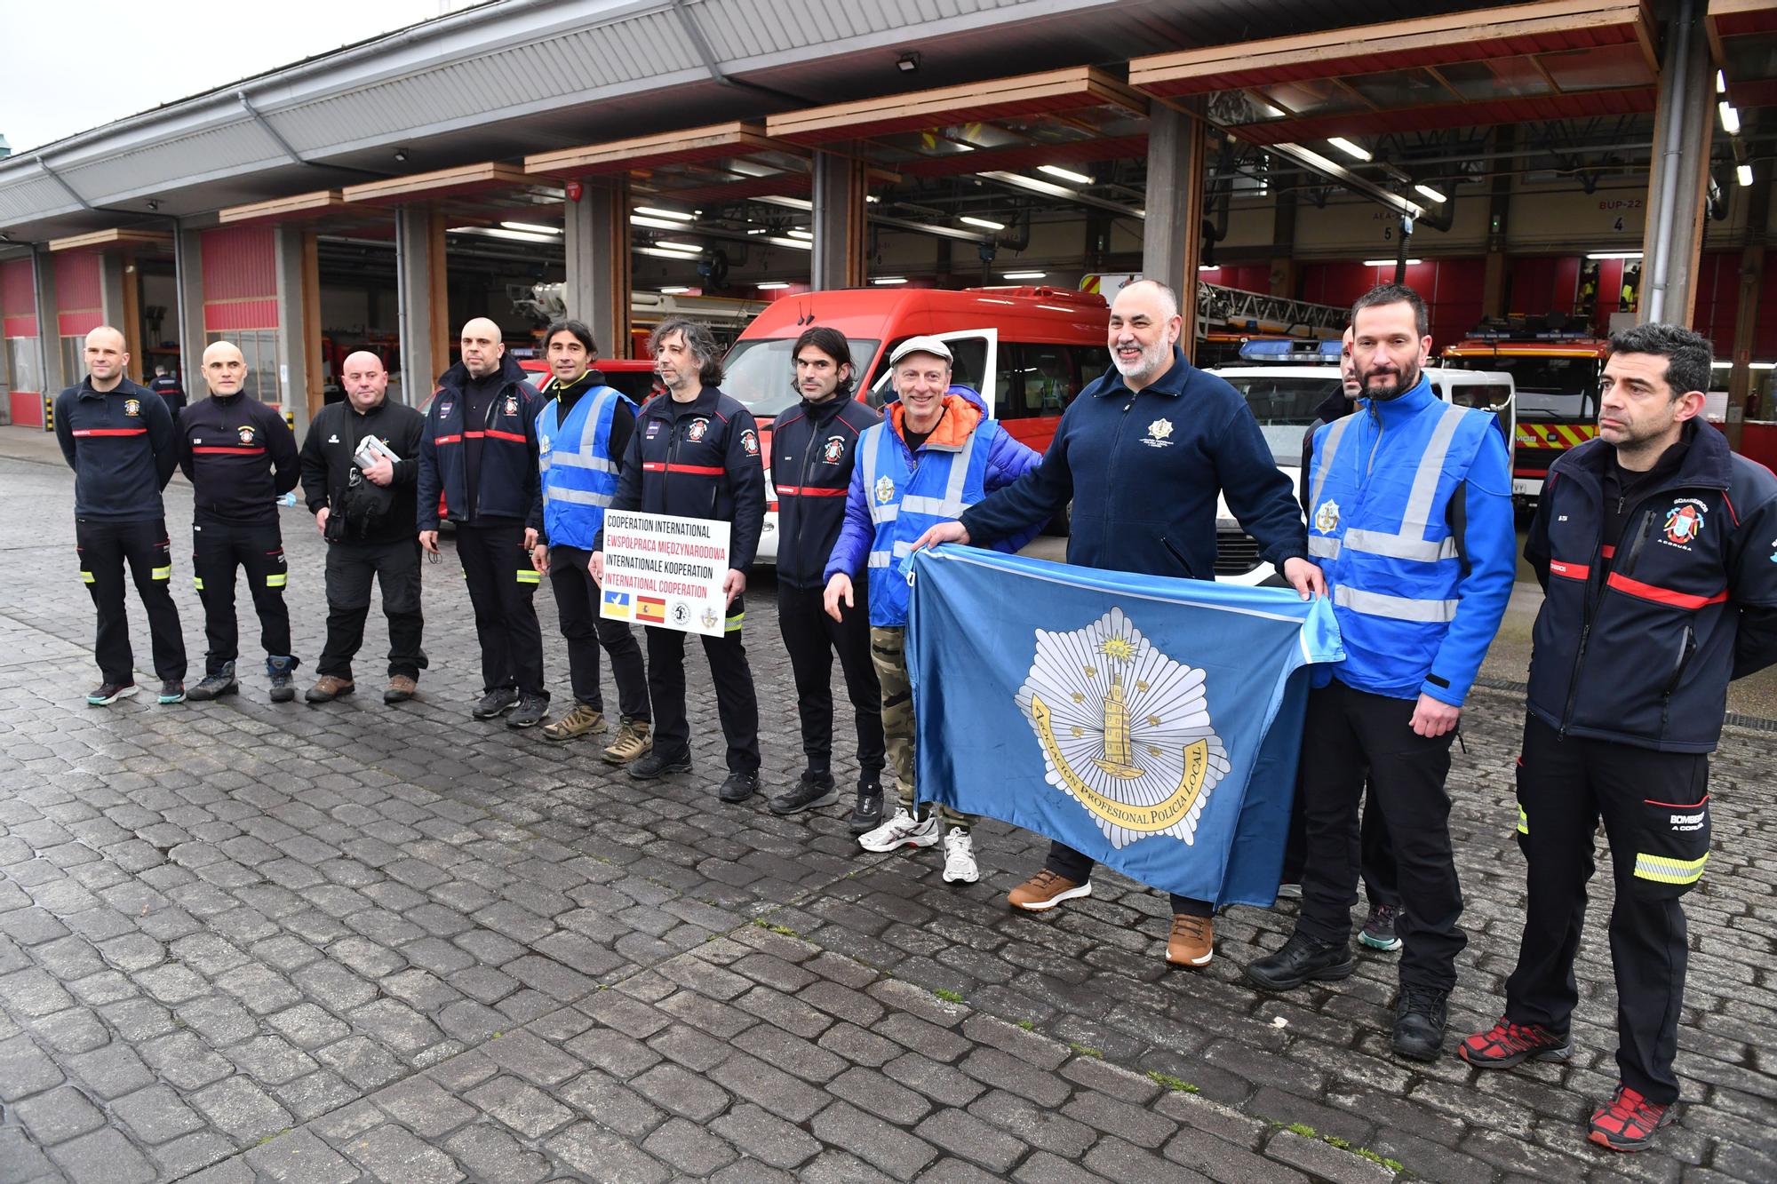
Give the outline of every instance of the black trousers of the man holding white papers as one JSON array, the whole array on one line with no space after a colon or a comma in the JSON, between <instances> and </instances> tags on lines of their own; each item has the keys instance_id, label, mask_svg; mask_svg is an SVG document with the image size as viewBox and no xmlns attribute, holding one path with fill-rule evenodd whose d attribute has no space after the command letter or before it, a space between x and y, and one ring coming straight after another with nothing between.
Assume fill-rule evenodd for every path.
<instances>
[{"instance_id":1,"label":"black trousers of the man holding white papers","mask_svg":"<svg viewBox=\"0 0 1777 1184\"><path fill-rule=\"evenodd\" d=\"M316 674L352 679L352 658L364 644L370 583L382 585L382 615L389 619L389 676L419 677L426 656L419 649L425 617L419 612L419 540L327 544L327 645Z\"/></svg>"}]
</instances>

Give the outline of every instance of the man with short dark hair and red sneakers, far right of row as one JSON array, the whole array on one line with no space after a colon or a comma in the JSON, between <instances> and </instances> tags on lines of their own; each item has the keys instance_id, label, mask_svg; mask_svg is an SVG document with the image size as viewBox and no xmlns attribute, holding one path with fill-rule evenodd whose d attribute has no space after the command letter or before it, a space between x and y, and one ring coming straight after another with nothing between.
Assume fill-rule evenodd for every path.
<instances>
[{"instance_id":1,"label":"man with short dark hair and red sneakers, far right of row","mask_svg":"<svg viewBox=\"0 0 1777 1184\"><path fill-rule=\"evenodd\" d=\"M1672 1122L1685 1004L1679 898L1709 859L1709 757L1727 683L1777 661L1777 476L1702 421L1713 350L1676 325L1612 338L1598 439L1550 469L1525 558L1544 588L1518 757L1528 903L1505 1015L1477 1068L1573 1056L1573 976L1603 818L1615 871L1614 1099L1590 1141Z\"/></svg>"}]
</instances>

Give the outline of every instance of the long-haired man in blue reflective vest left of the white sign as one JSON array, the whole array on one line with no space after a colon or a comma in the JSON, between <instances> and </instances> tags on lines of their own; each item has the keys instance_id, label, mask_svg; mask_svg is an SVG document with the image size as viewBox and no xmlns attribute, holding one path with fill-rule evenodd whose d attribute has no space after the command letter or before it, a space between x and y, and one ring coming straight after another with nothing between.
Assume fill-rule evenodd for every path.
<instances>
[{"instance_id":1,"label":"long-haired man in blue reflective vest left of the white sign","mask_svg":"<svg viewBox=\"0 0 1777 1184\"><path fill-rule=\"evenodd\" d=\"M599 583L592 578L592 551L604 512L617 496L617 473L629 437L636 432L636 405L606 386L592 370L592 329L558 320L544 334L549 380L538 391L537 452L544 491L544 537L531 551L537 571L549 576L567 638L567 668L574 709L544 725L544 738L578 740L604 732L604 695L599 692L599 647L611 656L622 724L604 748L610 764L629 764L654 747L649 736L649 679L641 645L627 620L599 615Z\"/></svg>"}]
</instances>

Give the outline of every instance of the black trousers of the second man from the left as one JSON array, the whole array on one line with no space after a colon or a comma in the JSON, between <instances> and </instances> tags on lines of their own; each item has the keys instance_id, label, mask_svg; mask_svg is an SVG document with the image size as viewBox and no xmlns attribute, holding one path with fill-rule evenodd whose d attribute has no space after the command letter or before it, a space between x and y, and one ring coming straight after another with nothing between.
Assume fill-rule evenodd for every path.
<instances>
[{"instance_id":1,"label":"black trousers of the second man from the left","mask_svg":"<svg viewBox=\"0 0 1777 1184\"><path fill-rule=\"evenodd\" d=\"M268 658L290 654L290 608L284 606L284 537L277 523L242 526L195 523L192 526L192 581L204 603L204 674L220 674L240 658L240 628L235 622L235 571L247 572L247 592L259 615L259 645Z\"/></svg>"}]
</instances>

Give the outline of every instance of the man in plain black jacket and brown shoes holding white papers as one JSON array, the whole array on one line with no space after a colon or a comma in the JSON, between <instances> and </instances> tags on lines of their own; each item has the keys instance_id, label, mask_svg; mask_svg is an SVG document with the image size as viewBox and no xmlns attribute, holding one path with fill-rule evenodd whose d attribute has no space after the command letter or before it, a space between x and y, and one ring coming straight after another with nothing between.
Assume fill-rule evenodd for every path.
<instances>
[{"instance_id":1,"label":"man in plain black jacket and brown shoes holding white papers","mask_svg":"<svg viewBox=\"0 0 1777 1184\"><path fill-rule=\"evenodd\" d=\"M357 690L352 658L364 644L370 581L377 580L389 619L389 684L382 700L407 702L426 665L419 649L419 540L412 530L426 421L386 398L389 375L375 354L347 357L339 379L345 402L322 407L302 441L302 496L327 540L327 645L306 699L332 702Z\"/></svg>"}]
</instances>

